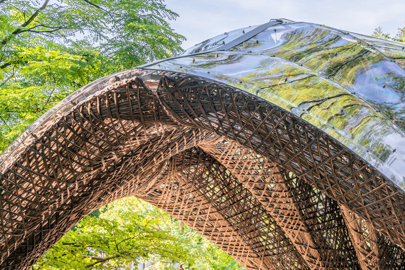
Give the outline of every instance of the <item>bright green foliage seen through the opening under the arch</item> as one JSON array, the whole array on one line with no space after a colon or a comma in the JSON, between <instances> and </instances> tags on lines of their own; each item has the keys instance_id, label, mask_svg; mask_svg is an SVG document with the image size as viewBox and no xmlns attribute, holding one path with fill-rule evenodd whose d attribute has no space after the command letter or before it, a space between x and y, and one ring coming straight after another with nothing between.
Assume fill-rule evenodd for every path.
<instances>
[{"instance_id":1,"label":"bright green foliage seen through the opening under the arch","mask_svg":"<svg viewBox=\"0 0 405 270\"><path fill-rule=\"evenodd\" d=\"M135 197L117 200L80 221L34 266L120 269L156 262L152 269L243 270L196 231Z\"/></svg>"}]
</instances>

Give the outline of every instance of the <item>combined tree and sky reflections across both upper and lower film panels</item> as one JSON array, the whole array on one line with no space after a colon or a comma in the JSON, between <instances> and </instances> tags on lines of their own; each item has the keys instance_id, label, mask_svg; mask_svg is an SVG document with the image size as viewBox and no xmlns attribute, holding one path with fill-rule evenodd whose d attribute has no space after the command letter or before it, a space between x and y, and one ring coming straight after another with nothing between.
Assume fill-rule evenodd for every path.
<instances>
[{"instance_id":1,"label":"combined tree and sky reflections across both upper and lower film panels","mask_svg":"<svg viewBox=\"0 0 405 270\"><path fill-rule=\"evenodd\" d=\"M360 41L355 34L308 24L277 33L276 44L272 43L273 37L269 38L274 32L267 30L233 48L252 50L249 57L236 56L233 52L218 53L218 58L212 53L200 55L190 70L210 70L215 73L215 79L294 110L331 134L343 135L345 139L340 138L347 143L359 143L386 160L391 150L381 138L395 127L376 110L380 109L400 127L404 118L392 113L402 105L379 94L384 84L378 76L389 78L384 91L392 95L403 95L404 77L384 73L391 62L371 46L372 42ZM217 69L222 69L225 75L216 74ZM229 78L228 74L234 76ZM375 89L370 90L368 86ZM374 91L374 95L369 91Z\"/></svg>"}]
</instances>

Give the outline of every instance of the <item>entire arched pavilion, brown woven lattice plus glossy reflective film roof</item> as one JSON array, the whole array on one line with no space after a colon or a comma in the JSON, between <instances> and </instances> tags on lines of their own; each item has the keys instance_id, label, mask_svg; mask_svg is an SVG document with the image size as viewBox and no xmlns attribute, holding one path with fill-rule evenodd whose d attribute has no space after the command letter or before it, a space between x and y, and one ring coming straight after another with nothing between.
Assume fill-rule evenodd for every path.
<instances>
[{"instance_id":1,"label":"entire arched pavilion, brown woven lattice plus glossy reflective film roof","mask_svg":"<svg viewBox=\"0 0 405 270\"><path fill-rule=\"evenodd\" d=\"M0 156L0 268L135 195L247 269L405 269L404 45L271 20L101 78Z\"/></svg>"}]
</instances>

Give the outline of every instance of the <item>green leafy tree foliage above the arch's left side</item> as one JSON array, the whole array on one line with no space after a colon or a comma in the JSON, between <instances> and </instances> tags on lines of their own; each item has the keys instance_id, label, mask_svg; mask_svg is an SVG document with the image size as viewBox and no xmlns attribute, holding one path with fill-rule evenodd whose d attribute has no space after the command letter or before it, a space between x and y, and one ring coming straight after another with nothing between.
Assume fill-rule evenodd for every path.
<instances>
[{"instance_id":1,"label":"green leafy tree foliage above the arch's left side","mask_svg":"<svg viewBox=\"0 0 405 270\"><path fill-rule=\"evenodd\" d=\"M177 16L163 0L0 0L0 149L80 87L181 51Z\"/></svg>"}]
</instances>

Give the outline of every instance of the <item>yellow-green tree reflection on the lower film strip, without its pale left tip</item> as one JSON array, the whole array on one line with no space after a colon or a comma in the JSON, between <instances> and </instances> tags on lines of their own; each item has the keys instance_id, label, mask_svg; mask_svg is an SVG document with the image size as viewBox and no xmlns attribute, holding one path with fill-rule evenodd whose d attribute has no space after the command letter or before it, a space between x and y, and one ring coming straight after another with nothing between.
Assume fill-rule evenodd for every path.
<instances>
[{"instance_id":1,"label":"yellow-green tree reflection on the lower film strip, without its pale left tip","mask_svg":"<svg viewBox=\"0 0 405 270\"><path fill-rule=\"evenodd\" d=\"M381 141L387 131L379 127L390 124L375 113L369 104L307 69L272 59L265 65L259 65L266 66L266 69L257 69L238 80L257 85L263 90L258 95L271 99L270 102L279 104L277 99L287 100L290 107L286 109L291 111L293 107L300 107L345 132L367 149L371 147L372 152L381 159L388 158L391 150Z\"/></svg>"}]
</instances>

